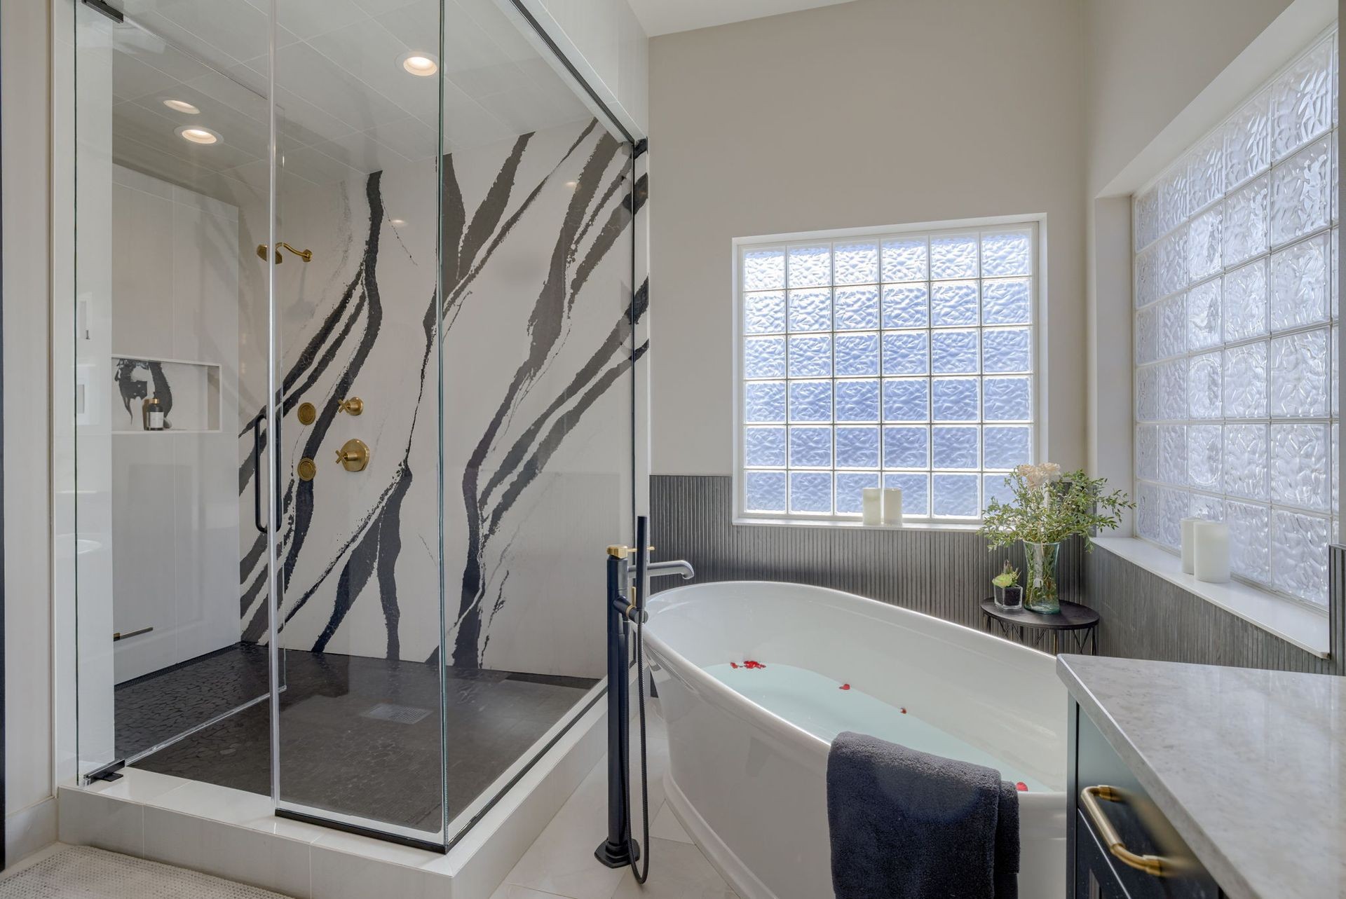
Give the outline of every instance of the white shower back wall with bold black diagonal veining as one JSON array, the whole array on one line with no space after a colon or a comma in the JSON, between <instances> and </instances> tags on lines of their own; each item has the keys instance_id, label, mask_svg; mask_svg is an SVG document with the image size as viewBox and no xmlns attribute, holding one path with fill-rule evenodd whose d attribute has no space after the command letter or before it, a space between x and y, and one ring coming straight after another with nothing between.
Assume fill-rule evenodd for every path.
<instances>
[{"instance_id":1,"label":"white shower back wall with bold black diagonal veining","mask_svg":"<svg viewBox=\"0 0 1346 899\"><path fill-rule=\"evenodd\" d=\"M627 160L596 122L446 157L452 665L602 676L602 633L581 610L631 510ZM284 196L283 236L314 250L277 269L293 384L281 433L287 647L413 661L439 649L433 178L427 161ZM365 400L363 415L336 416L347 396ZM304 400L319 408L311 427L292 415ZM347 437L370 445L362 472L331 464ZM245 433L245 522L250 450ZM319 475L292 480L304 455ZM244 639L265 638L264 567L245 552Z\"/></svg>"}]
</instances>

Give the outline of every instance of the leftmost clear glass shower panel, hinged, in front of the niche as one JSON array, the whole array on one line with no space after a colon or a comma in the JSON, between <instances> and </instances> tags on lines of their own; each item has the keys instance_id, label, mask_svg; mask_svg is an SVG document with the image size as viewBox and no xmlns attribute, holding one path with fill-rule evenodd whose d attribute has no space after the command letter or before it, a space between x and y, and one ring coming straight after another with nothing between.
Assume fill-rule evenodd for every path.
<instances>
[{"instance_id":1,"label":"leftmost clear glass shower panel, hinged, in front of the niche","mask_svg":"<svg viewBox=\"0 0 1346 899\"><path fill-rule=\"evenodd\" d=\"M249 96L254 116L267 102L195 48L112 7L61 1L57 22L71 31L57 46L70 62L55 83L73 117L59 128L73 124L74 140L58 141L73 149L55 155L54 170L71 178L74 218L54 238L73 275L69 287L57 279L70 296L54 328L57 390L69 405L61 401L54 455L57 519L71 524L58 525L69 533L54 545L58 584L73 572L73 758L85 779L271 693L258 670L265 651L240 641L242 546L233 554L246 474L234 433L246 405L238 353L260 343L240 340L242 297L260 295L240 238L256 198L218 178L221 159L260 155L268 136L237 96L230 105L197 90L195 78L222 78ZM223 157L184 137L198 114L211 124L236 116Z\"/></svg>"}]
</instances>

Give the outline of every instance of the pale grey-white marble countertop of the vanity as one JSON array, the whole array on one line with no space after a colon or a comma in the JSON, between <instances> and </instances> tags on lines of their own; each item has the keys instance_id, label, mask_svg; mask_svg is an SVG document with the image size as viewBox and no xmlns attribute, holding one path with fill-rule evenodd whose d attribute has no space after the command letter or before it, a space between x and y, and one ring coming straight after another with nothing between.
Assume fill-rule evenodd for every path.
<instances>
[{"instance_id":1,"label":"pale grey-white marble countertop of the vanity","mask_svg":"<svg viewBox=\"0 0 1346 899\"><path fill-rule=\"evenodd\" d=\"M1346 678L1090 655L1057 673L1232 899L1346 898Z\"/></svg>"}]
</instances>

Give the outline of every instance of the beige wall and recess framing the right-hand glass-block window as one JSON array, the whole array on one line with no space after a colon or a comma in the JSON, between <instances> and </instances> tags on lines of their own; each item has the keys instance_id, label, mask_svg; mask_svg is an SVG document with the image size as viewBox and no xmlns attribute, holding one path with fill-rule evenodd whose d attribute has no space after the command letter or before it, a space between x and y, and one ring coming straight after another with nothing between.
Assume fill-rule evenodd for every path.
<instances>
[{"instance_id":1,"label":"beige wall and recess framing the right-hand glass-block window","mask_svg":"<svg viewBox=\"0 0 1346 899\"><path fill-rule=\"evenodd\" d=\"M1085 3L1086 458L1117 487L1132 489L1129 196L1326 27L1337 5Z\"/></svg>"}]
</instances>

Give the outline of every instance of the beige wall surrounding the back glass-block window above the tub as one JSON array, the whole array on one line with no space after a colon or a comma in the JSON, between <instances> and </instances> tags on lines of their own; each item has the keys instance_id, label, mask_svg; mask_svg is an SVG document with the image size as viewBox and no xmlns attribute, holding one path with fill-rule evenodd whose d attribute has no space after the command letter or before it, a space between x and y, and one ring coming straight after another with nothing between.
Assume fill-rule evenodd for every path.
<instances>
[{"instance_id":1,"label":"beige wall surrounding the back glass-block window above the tub","mask_svg":"<svg viewBox=\"0 0 1346 899\"><path fill-rule=\"evenodd\" d=\"M1082 34L1077 0L857 0L650 42L656 474L732 470L734 237L1032 213L1044 455L1084 463Z\"/></svg>"}]
</instances>

